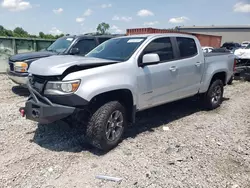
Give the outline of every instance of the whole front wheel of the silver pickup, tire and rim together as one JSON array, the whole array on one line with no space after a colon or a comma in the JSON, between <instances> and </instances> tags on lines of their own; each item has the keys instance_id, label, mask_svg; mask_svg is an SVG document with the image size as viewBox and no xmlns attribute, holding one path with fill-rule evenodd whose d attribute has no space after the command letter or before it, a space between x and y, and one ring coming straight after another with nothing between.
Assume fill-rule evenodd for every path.
<instances>
[{"instance_id":1,"label":"whole front wheel of the silver pickup, tire and rim together","mask_svg":"<svg viewBox=\"0 0 250 188\"><path fill-rule=\"evenodd\" d=\"M119 144L126 126L124 106L118 101L107 102L90 117L86 139L92 146L109 151Z\"/></svg>"}]
</instances>

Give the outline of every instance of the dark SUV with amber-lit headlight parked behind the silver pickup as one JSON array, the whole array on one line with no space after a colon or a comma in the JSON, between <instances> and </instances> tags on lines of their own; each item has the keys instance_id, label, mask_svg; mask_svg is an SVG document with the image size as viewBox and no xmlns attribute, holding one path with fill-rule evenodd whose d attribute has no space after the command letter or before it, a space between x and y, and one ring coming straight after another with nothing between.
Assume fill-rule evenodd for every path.
<instances>
[{"instance_id":1,"label":"dark SUV with amber-lit headlight parked behind the silver pickup","mask_svg":"<svg viewBox=\"0 0 250 188\"><path fill-rule=\"evenodd\" d=\"M8 77L21 86L26 87L28 68L30 64L43 57L52 55L82 55L84 56L102 42L115 35L74 35L64 36L53 42L48 48L38 52L28 52L13 55L9 58Z\"/></svg>"}]
</instances>

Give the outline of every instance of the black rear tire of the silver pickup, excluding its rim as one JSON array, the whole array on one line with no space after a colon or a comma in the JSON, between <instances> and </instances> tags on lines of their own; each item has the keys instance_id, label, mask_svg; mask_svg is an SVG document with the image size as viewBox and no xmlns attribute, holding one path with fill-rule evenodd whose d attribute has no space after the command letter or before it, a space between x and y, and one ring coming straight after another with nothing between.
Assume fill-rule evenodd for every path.
<instances>
[{"instance_id":1,"label":"black rear tire of the silver pickup, excluding its rim","mask_svg":"<svg viewBox=\"0 0 250 188\"><path fill-rule=\"evenodd\" d=\"M214 92L216 87L220 87L221 95L220 95L218 102L215 103L215 102L212 102L212 98L213 98L213 92ZM203 97L203 102L204 102L205 108L207 110L213 110L213 109L218 108L223 101L223 93L224 93L224 85L223 85L222 80L219 80L219 79L214 80L210 84L208 91L204 94L204 97Z\"/></svg>"}]
</instances>

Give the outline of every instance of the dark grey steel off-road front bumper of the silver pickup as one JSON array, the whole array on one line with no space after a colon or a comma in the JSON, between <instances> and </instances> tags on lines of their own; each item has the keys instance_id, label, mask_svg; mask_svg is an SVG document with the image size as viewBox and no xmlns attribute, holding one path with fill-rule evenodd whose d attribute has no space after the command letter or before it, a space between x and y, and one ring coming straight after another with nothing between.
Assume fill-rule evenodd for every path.
<instances>
[{"instance_id":1,"label":"dark grey steel off-road front bumper of the silver pickup","mask_svg":"<svg viewBox=\"0 0 250 188\"><path fill-rule=\"evenodd\" d=\"M20 111L24 112L26 119L42 124L49 124L74 113L75 107L54 104L31 88L29 83L27 83L27 87L31 96L26 101L25 107L20 109Z\"/></svg>"}]
</instances>

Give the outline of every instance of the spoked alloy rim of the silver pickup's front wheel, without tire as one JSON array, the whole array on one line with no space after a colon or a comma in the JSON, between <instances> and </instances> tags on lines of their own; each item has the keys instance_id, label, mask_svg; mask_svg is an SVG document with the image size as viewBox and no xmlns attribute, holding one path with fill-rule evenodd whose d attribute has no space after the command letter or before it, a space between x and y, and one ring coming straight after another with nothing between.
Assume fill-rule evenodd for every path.
<instances>
[{"instance_id":1,"label":"spoked alloy rim of the silver pickup's front wheel, without tire","mask_svg":"<svg viewBox=\"0 0 250 188\"><path fill-rule=\"evenodd\" d=\"M123 129L123 115L119 110L114 111L106 125L106 138L113 142L120 137Z\"/></svg>"}]
</instances>

